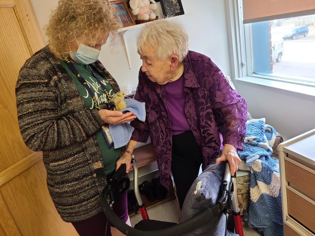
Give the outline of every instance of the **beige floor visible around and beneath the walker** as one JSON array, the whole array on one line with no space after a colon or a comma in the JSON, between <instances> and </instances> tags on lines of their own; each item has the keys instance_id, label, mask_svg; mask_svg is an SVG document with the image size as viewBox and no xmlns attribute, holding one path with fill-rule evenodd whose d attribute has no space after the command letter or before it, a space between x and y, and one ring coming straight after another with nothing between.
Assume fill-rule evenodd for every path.
<instances>
[{"instance_id":1,"label":"beige floor visible around and beneath the walker","mask_svg":"<svg viewBox=\"0 0 315 236\"><path fill-rule=\"evenodd\" d=\"M148 209L149 218L152 220L178 222L180 209L176 199L169 200ZM130 217L132 227L141 220L141 215L137 214ZM259 236L255 229L244 227L244 236Z\"/></svg>"}]
</instances>

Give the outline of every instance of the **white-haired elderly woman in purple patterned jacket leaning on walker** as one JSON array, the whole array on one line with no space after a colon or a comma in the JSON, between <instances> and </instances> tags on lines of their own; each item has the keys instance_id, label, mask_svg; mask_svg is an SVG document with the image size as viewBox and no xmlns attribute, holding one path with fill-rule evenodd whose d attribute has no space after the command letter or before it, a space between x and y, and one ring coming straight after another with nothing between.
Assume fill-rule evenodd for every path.
<instances>
[{"instance_id":1,"label":"white-haired elderly woman in purple patterned jacket leaning on walker","mask_svg":"<svg viewBox=\"0 0 315 236\"><path fill-rule=\"evenodd\" d=\"M181 208L201 164L227 160L232 175L238 170L247 104L209 57L188 51L180 24L147 24L137 46L143 64L135 99L146 103L146 121L131 122L127 151L150 134L161 184L169 187L172 172Z\"/></svg>"}]
</instances>

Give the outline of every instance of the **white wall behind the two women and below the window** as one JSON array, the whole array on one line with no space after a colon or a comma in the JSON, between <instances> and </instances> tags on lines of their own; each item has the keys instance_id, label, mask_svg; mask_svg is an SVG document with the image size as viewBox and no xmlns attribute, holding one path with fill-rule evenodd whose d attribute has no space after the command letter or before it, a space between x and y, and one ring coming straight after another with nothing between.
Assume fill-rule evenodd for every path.
<instances>
[{"instance_id":1,"label":"white wall behind the two women and below the window","mask_svg":"<svg viewBox=\"0 0 315 236\"><path fill-rule=\"evenodd\" d=\"M190 50L209 56L225 75L231 75L224 2L182 0L185 13L192 15L179 21L190 37ZM43 29L58 0L31 0L31 3ZM118 81L122 90L128 84L136 86L138 83L141 60L137 54L136 35L137 30L126 33L132 70L129 70L119 37L114 46L110 47L109 43L104 45L100 55L100 61ZM284 138L293 138L315 127L314 97L243 81L235 81L235 86L247 100L248 110L253 117L265 117L266 122L274 126Z\"/></svg>"}]
</instances>

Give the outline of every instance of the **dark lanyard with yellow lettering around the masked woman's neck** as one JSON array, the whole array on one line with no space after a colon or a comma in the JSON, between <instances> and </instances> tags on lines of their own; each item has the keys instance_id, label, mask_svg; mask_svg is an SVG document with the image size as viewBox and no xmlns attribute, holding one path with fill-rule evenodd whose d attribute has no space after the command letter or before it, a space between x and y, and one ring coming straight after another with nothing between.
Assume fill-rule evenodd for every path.
<instances>
[{"instance_id":1,"label":"dark lanyard with yellow lettering around the masked woman's neck","mask_svg":"<svg viewBox=\"0 0 315 236\"><path fill-rule=\"evenodd\" d=\"M77 71L77 68L75 68L73 63L66 56L62 56L62 57L66 61L67 65L69 66L69 68L73 72L73 74L75 74L77 76L78 80L81 82L81 84L86 88L86 90L88 91L90 96L93 98L93 102L94 102L95 108L97 109L99 107L99 104L97 104L95 95L92 92L92 90L89 87L89 85L87 84L86 80L80 75L80 73ZM108 93L105 85L100 81L99 77L95 74L95 72L91 69L90 66L89 66L89 68L90 68L93 76L95 77L96 81L100 84L100 86L104 90L105 94L107 95L108 101L111 100L112 98L111 98L110 94Z\"/></svg>"}]
</instances>

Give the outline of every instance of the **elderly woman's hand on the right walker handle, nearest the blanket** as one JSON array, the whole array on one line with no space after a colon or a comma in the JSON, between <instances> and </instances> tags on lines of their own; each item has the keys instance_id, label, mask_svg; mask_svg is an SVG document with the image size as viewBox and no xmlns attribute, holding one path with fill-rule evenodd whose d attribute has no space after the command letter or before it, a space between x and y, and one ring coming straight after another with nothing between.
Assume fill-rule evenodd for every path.
<instances>
[{"instance_id":1,"label":"elderly woman's hand on the right walker handle, nearest the blanket","mask_svg":"<svg viewBox=\"0 0 315 236\"><path fill-rule=\"evenodd\" d=\"M237 154L236 148L231 144L225 144L222 150L222 155L215 160L215 163L221 161L228 161L230 164L231 175L233 176L238 170L238 165L241 163L241 159Z\"/></svg>"}]
</instances>

